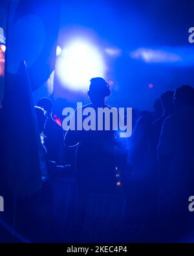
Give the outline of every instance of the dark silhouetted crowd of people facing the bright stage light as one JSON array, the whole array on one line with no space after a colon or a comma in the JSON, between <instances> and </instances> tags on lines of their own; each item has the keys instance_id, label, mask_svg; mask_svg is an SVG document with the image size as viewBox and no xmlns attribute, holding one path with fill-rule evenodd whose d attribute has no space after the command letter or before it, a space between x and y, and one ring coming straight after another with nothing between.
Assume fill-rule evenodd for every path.
<instances>
[{"instance_id":1,"label":"dark silhouetted crowd of people facing the bright stage light","mask_svg":"<svg viewBox=\"0 0 194 256\"><path fill-rule=\"evenodd\" d=\"M88 91L90 103L82 111L111 110L105 103L110 93L103 78L92 78ZM44 231L39 236L32 232L30 239L36 242L192 239L194 222L188 205L189 196L194 195L193 87L184 85L175 91L165 91L155 101L154 108L153 112L133 109L132 135L122 138L113 127L80 130L76 123L75 130L64 131L55 120L52 100L38 100L35 110L41 159L46 163L42 176L47 179L43 191L36 194L36 200L31 198L28 207L30 216L32 204L39 209L32 223L34 226L38 222L35 227ZM74 112L77 114L78 109Z\"/></svg>"}]
</instances>

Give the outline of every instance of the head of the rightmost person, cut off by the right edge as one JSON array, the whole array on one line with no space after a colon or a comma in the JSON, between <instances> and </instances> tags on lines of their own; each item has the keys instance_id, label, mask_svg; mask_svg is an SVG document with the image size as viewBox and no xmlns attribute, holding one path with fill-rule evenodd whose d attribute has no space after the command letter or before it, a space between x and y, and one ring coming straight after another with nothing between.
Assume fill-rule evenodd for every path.
<instances>
[{"instance_id":1,"label":"head of the rightmost person, cut off by the right edge","mask_svg":"<svg viewBox=\"0 0 194 256\"><path fill-rule=\"evenodd\" d=\"M176 110L194 107L194 88L191 86L180 86L176 89L173 103Z\"/></svg>"}]
</instances>

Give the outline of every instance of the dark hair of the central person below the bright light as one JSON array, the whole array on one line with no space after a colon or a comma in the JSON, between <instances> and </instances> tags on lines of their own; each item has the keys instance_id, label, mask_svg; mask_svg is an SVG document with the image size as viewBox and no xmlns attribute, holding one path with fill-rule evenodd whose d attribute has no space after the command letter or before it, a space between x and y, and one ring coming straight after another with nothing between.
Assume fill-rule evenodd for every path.
<instances>
[{"instance_id":1,"label":"dark hair of the central person below the bright light","mask_svg":"<svg viewBox=\"0 0 194 256\"><path fill-rule=\"evenodd\" d=\"M109 96L111 93L109 84L102 77L95 77L91 79L88 95L102 95L103 97Z\"/></svg>"}]
</instances>

